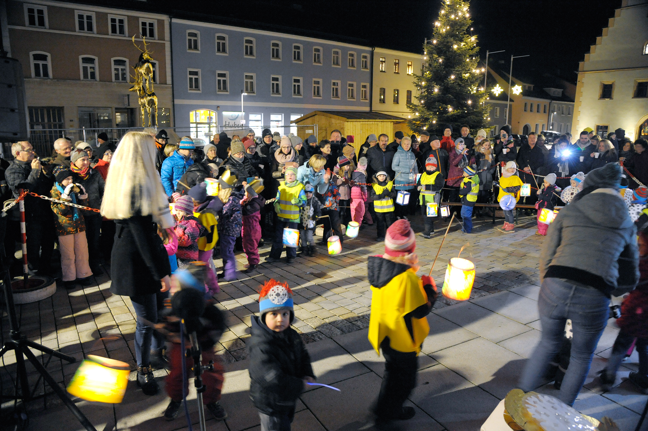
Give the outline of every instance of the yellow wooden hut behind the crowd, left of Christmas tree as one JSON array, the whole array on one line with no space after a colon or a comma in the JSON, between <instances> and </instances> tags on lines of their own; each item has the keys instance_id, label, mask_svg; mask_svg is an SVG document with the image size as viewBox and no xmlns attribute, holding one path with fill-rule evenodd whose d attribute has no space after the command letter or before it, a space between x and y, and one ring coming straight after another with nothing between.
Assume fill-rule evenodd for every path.
<instances>
[{"instance_id":1,"label":"yellow wooden hut behind the crowd, left of Christmas tree","mask_svg":"<svg viewBox=\"0 0 648 431\"><path fill-rule=\"evenodd\" d=\"M297 124L297 126L317 126L297 127L297 135L304 140L309 135L316 135L318 142L322 139L329 139L330 132L335 129L340 130L343 137L353 135L356 154L358 154L360 146L364 144L367 135L386 134L391 142L394 139L394 133L398 130L404 134L408 134L409 131L406 119L369 111L312 111L291 123Z\"/></svg>"}]
</instances>

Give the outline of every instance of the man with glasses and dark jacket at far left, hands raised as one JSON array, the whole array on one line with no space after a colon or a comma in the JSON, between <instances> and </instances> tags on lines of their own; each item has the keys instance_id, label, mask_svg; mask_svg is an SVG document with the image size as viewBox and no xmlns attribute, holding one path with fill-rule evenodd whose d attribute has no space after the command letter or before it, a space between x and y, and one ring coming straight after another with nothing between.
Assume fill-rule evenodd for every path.
<instances>
[{"instance_id":1,"label":"man with glasses and dark jacket at far left, hands raised","mask_svg":"<svg viewBox=\"0 0 648 431\"><path fill-rule=\"evenodd\" d=\"M66 139L61 139L71 147ZM14 161L6 169L5 178L14 198L19 196L20 189L28 189L31 192L49 196L54 185L54 177L49 173L47 167L43 167L40 160L36 158L32 145L28 141L14 143L11 146L11 153L14 156ZM69 155L69 150L67 154ZM20 232L17 209L18 205L14 206L8 217L7 237L12 239L6 242L9 247L16 244L15 241ZM49 202L35 196L25 196L25 221L27 222L27 259L30 270L38 271L39 275L51 274L50 262L56 233L54 216ZM8 255L13 255L14 250L6 251L8 251Z\"/></svg>"}]
</instances>

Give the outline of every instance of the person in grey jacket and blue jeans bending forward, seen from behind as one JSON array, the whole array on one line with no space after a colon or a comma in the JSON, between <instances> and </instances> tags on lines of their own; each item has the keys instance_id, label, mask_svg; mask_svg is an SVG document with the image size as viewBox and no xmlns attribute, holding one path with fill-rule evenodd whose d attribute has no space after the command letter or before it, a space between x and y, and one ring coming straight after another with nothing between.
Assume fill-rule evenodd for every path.
<instances>
[{"instance_id":1,"label":"person in grey jacket and blue jeans bending forward, seen from behind","mask_svg":"<svg viewBox=\"0 0 648 431\"><path fill-rule=\"evenodd\" d=\"M592 170L583 191L549 227L540 252L542 339L522 373L524 391L540 386L561 348L565 322L571 319L570 365L558 398L572 406L607 325L610 294L620 296L638 283L636 227L619 194L620 184L619 165Z\"/></svg>"}]
</instances>

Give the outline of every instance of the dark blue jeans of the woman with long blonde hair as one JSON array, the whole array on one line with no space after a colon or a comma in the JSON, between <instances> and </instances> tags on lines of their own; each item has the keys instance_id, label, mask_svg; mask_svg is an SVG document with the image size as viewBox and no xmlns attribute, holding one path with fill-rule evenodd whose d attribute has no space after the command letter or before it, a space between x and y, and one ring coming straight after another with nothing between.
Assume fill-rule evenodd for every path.
<instances>
[{"instance_id":1,"label":"dark blue jeans of the woman with long blonde hair","mask_svg":"<svg viewBox=\"0 0 648 431\"><path fill-rule=\"evenodd\" d=\"M165 338L153 328L146 326L139 318L144 318L157 323L157 312L164 308L164 300L168 298L169 292L157 292L157 294L131 296L133 309L137 315L137 327L135 327L135 358L137 365L147 367L150 365L151 350L161 351L165 346Z\"/></svg>"}]
</instances>

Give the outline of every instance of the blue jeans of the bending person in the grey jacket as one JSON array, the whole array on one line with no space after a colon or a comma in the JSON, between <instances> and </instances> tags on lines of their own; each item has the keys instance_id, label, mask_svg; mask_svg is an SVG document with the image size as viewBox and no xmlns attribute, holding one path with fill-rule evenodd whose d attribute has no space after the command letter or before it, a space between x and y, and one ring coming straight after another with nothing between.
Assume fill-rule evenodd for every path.
<instances>
[{"instance_id":1,"label":"blue jeans of the bending person in the grey jacket","mask_svg":"<svg viewBox=\"0 0 648 431\"><path fill-rule=\"evenodd\" d=\"M565 321L571 319L572 353L558 398L572 406L590 371L594 349L608 320L609 303L610 299L593 287L565 279L544 279L538 298L542 338L527 360L520 389L527 392L540 385L561 349Z\"/></svg>"}]
</instances>

